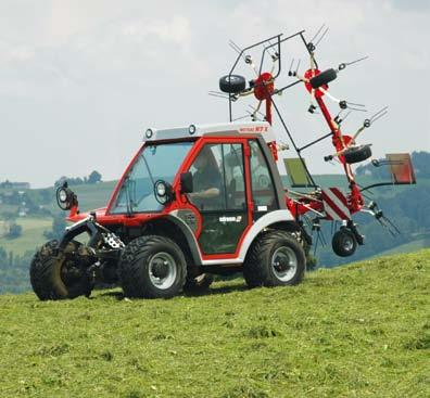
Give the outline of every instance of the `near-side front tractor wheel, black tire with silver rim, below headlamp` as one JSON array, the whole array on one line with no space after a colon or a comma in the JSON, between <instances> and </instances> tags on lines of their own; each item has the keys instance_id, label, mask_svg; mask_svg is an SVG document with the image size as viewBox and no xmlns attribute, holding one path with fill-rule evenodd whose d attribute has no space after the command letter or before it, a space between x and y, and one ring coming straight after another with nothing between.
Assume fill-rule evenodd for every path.
<instances>
[{"instance_id":1,"label":"near-side front tractor wheel, black tire with silver rim, below headlamp","mask_svg":"<svg viewBox=\"0 0 430 398\"><path fill-rule=\"evenodd\" d=\"M119 280L126 297L169 298L182 290L186 278L184 253L168 237L137 237L119 259Z\"/></svg>"}]
</instances>

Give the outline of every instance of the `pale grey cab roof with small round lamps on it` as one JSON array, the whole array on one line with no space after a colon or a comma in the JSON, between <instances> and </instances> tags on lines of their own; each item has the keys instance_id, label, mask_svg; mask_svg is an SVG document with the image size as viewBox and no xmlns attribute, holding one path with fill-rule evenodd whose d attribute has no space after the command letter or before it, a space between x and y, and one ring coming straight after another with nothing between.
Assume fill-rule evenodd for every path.
<instances>
[{"instance_id":1,"label":"pale grey cab roof with small round lamps on it","mask_svg":"<svg viewBox=\"0 0 430 398\"><path fill-rule=\"evenodd\" d=\"M224 123L212 125L189 125L170 129L149 128L143 134L143 141L177 140L203 136L241 136L262 134L266 142L275 141L271 126L267 121Z\"/></svg>"}]
</instances>

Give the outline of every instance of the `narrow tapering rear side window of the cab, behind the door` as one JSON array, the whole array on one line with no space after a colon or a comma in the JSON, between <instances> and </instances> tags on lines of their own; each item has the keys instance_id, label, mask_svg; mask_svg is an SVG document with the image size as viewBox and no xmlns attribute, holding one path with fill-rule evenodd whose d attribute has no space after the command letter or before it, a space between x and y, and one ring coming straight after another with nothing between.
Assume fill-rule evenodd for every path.
<instances>
[{"instance_id":1,"label":"narrow tapering rear side window of the cab, behind the door","mask_svg":"<svg viewBox=\"0 0 430 398\"><path fill-rule=\"evenodd\" d=\"M252 196L256 211L279 208L267 161L257 141L250 141Z\"/></svg>"}]
</instances>

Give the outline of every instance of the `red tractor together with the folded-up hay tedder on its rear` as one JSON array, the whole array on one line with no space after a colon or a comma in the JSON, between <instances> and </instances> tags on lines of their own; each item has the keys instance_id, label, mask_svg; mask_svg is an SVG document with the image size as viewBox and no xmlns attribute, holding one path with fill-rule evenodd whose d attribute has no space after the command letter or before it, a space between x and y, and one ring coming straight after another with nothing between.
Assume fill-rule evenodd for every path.
<instances>
[{"instance_id":1,"label":"red tractor together with the folded-up hay tedder on its rear","mask_svg":"<svg viewBox=\"0 0 430 398\"><path fill-rule=\"evenodd\" d=\"M220 91L210 92L227 100L229 121L148 128L106 207L80 211L77 195L64 182L56 201L61 209L69 210L72 224L59 241L46 243L35 254L30 282L36 295L42 300L89 296L96 284L104 284L119 285L126 297L168 298L208 287L214 274L237 272L243 273L250 287L295 285L304 277L312 234L319 232L321 220L340 223L332 239L340 256L352 255L364 243L352 220L355 213L369 213L391 232L395 230L374 201L365 204L363 191L414 183L410 157L394 154L374 161L377 167L391 167L390 182L363 188L355 181L352 164L371 156L370 145L358 145L356 139L387 108L366 119L353 136L342 133L342 112L359 112L362 105L337 100L328 92L328 84L356 61L320 72L315 50L327 33L322 30L311 41L299 31L244 49L231 42L237 59L219 79ZM295 39L304 44L309 68L301 75L300 61L293 60L287 77L294 81L277 88L282 48ZM252 51L261 52L260 66ZM249 80L235 73L242 61L254 74ZM275 102L276 95L298 84L309 93L309 113L317 114L319 108L330 131L301 147ZM338 103L336 117L324 97ZM246 115L250 121L232 115L233 103L244 98L257 100ZM263 103L265 113L260 111ZM284 165L292 188L301 187L302 192L282 184L277 162L289 145L277 142L273 110L298 154L286 158ZM305 149L327 138L336 152L325 159L342 166L349 193L317 185L302 156Z\"/></svg>"}]
</instances>

